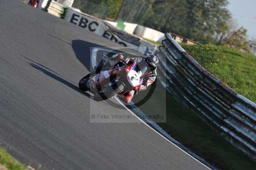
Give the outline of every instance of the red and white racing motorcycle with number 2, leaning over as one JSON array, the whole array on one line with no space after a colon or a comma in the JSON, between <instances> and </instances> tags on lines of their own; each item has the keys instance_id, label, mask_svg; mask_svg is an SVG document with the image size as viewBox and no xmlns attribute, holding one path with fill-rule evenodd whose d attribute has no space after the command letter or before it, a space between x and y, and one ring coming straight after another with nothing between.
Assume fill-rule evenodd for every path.
<instances>
[{"instance_id":1,"label":"red and white racing motorcycle with number 2, leaning over","mask_svg":"<svg viewBox=\"0 0 256 170\"><path fill-rule=\"evenodd\" d=\"M120 61L113 67L91 72L79 81L79 88L92 92L95 101L103 101L116 95L135 90L138 92L143 83L143 73L137 60Z\"/></svg>"}]
</instances>

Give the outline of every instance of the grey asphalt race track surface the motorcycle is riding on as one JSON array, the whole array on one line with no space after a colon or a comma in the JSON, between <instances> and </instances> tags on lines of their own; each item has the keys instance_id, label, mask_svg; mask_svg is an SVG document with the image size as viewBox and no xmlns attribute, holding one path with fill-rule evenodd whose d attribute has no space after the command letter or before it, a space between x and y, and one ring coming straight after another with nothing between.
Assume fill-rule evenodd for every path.
<instances>
[{"instance_id":1,"label":"grey asphalt race track surface the motorcycle is riding on","mask_svg":"<svg viewBox=\"0 0 256 170\"><path fill-rule=\"evenodd\" d=\"M41 170L207 169L143 123L90 123L90 112L131 114L77 87L93 46L116 44L0 0L0 146Z\"/></svg>"}]
</instances>

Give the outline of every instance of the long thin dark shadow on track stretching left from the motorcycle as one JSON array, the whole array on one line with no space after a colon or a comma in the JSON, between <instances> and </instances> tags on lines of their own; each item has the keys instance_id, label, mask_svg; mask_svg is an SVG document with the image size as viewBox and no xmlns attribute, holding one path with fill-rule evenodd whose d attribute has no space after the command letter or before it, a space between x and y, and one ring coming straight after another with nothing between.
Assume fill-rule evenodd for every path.
<instances>
[{"instance_id":1,"label":"long thin dark shadow on track stretching left from the motorcycle","mask_svg":"<svg viewBox=\"0 0 256 170\"><path fill-rule=\"evenodd\" d=\"M27 62L28 63L28 62ZM65 84L66 86L69 86L71 89L74 89L74 90L76 90L77 92L79 92L79 93L81 93L81 94L83 94L83 95L86 95L88 98L92 98L93 99L93 96L91 96L90 94L88 94L88 93L86 93L86 92L83 92L83 91L81 91L77 86L75 86L74 84L72 84L72 83L70 83L69 81L66 81L65 79L63 79L63 78L61 78L61 77L63 77L63 76L61 76L61 77L59 77L58 75L55 75L55 74L53 74L53 73L51 73L51 72L49 72L49 71L47 71L46 69L44 69L44 68L47 68L47 67L45 67L45 66L42 66L41 64L35 64L35 63L28 63L30 66L32 66L33 68L35 68L35 69L38 69L39 71L41 71L41 72L43 72L44 74L46 74L46 75L48 75L49 77L51 77L51 78L54 78L55 80L57 80L57 81L59 81L59 82L61 82L62 84ZM44 67L44 68L43 68ZM48 69L48 68L47 68ZM50 70L50 69L49 69ZM52 71L52 70L51 70ZM52 71L53 72L53 71ZM56 72L55 72L56 73Z\"/></svg>"}]
</instances>

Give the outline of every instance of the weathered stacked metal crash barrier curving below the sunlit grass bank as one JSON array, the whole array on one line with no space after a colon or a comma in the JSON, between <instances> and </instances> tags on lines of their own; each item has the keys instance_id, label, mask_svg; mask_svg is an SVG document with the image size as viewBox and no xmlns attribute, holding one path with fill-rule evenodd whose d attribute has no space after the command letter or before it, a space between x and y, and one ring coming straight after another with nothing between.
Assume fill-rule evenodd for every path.
<instances>
[{"instance_id":1,"label":"weathered stacked metal crash barrier curving below the sunlit grass bank","mask_svg":"<svg viewBox=\"0 0 256 170\"><path fill-rule=\"evenodd\" d=\"M256 161L256 104L204 69L170 34L162 43L158 57L166 59L160 71L166 75L167 89Z\"/></svg>"}]
</instances>

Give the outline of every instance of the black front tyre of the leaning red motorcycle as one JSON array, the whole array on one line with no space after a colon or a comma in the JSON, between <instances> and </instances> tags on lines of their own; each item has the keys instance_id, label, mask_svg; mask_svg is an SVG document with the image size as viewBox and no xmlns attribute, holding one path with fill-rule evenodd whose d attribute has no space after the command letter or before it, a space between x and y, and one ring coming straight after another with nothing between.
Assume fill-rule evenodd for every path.
<instances>
[{"instance_id":1,"label":"black front tyre of the leaning red motorcycle","mask_svg":"<svg viewBox=\"0 0 256 170\"><path fill-rule=\"evenodd\" d=\"M116 82L112 84L106 91L102 91L102 89L96 91L96 93L93 96L93 99L95 101L103 101L108 98L112 98L113 96L118 95L125 89L125 85L122 82Z\"/></svg>"}]
</instances>

